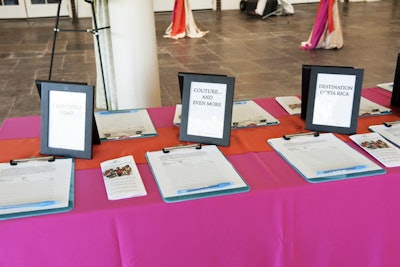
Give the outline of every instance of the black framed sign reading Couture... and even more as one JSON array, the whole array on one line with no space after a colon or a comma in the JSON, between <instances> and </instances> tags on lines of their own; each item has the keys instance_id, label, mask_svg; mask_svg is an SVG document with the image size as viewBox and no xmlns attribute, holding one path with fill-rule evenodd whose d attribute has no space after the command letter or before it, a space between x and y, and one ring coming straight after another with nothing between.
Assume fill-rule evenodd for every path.
<instances>
[{"instance_id":1,"label":"black framed sign reading Couture... and even more","mask_svg":"<svg viewBox=\"0 0 400 267\"><path fill-rule=\"evenodd\" d=\"M235 78L185 75L179 139L229 146Z\"/></svg>"}]
</instances>

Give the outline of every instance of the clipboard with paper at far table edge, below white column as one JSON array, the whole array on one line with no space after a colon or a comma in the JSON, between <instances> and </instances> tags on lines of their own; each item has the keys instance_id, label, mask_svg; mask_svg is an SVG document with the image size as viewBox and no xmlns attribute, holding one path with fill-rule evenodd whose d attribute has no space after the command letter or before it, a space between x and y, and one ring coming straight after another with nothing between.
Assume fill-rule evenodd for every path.
<instances>
[{"instance_id":1,"label":"clipboard with paper at far table edge, below white column","mask_svg":"<svg viewBox=\"0 0 400 267\"><path fill-rule=\"evenodd\" d=\"M146 109L99 111L94 116L101 139L118 140L157 135Z\"/></svg>"}]
</instances>

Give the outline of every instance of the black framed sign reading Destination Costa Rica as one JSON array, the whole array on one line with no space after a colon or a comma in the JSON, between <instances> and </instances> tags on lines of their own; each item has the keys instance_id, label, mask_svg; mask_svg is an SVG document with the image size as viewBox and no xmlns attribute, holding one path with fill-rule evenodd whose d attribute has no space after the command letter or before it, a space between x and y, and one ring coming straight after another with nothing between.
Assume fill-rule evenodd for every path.
<instances>
[{"instance_id":1,"label":"black framed sign reading Destination Costa Rica","mask_svg":"<svg viewBox=\"0 0 400 267\"><path fill-rule=\"evenodd\" d=\"M363 76L362 69L312 67L306 129L356 133Z\"/></svg>"}]
</instances>

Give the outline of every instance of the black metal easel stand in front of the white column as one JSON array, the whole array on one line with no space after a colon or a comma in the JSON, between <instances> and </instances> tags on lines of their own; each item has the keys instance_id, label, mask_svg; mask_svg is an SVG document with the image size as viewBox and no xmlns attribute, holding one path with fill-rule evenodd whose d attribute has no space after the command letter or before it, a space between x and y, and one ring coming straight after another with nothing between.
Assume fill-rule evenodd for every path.
<instances>
[{"instance_id":1,"label":"black metal easel stand in front of the white column","mask_svg":"<svg viewBox=\"0 0 400 267\"><path fill-rule=\"evenodd\" d=\"M108 97L107 97L107 91L106 91L106 82L105 82L105 79L104 79L103 61L102 61L102 58L101 58L99 31L100 30L109 29L110 26L101 27L101 28L97 27L96 12L95 12L95 9L94 9L93 1L94 0L85 0L85 2L87 2L87 3L89 3L91 5L94 28L93 29L85 29L85 30L60 29L58 27L59 20L60 20L60 10L61 10L61 2L62 2L62 0L58 1L57 17L56 17L56 23L55 23L55 26L54 26L53 48L52 48L52 51L51 51L51 59L50 59L49 80L51 80L51 74L52 74L52 70L53 70L54 53L55 53L55 47L56 47L56 41L57 41L58 32L88 32L88 33L92 33L96 37L97 49L98 49L98 53L99 53L101 77L102 77L102 80L103 80L103 88L104 88L106 108L107 108L107 110L109 110L109 108L108 108Z\"/></svg>"}]
</instances>

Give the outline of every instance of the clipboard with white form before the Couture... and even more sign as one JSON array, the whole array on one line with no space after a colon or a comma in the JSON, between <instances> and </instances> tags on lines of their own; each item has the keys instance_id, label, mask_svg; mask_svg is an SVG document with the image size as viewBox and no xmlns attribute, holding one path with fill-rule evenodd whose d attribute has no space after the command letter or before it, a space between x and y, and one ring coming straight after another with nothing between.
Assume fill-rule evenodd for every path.
<instances>
[{"instance_id":1,"label":"clipboard with white form before the Couture... and even more sign","mask_svg":"<svg viewBox=\"0 0 400 267\"><path fill-rule=\"evenodd\" d=\"M168 147L147 152L146 159L167 203L250 190L215 145Z\"/></svg>"}]
</instances>

